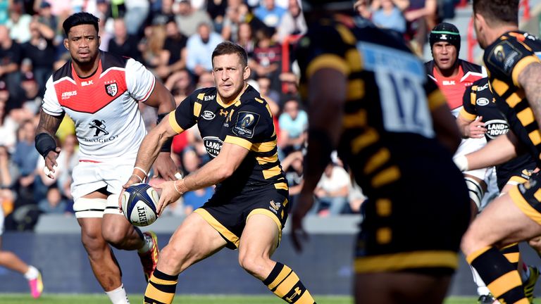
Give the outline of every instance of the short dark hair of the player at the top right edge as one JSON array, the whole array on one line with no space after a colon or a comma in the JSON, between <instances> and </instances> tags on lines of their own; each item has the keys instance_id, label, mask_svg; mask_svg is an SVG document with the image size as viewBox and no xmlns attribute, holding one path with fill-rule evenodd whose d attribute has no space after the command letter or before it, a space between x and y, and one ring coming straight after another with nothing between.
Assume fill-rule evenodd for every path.
<instances>
[{"instance_id":1,"label":"short dark hair of the player at the top right edge","mask_svg":"<svg viewBox=\"0 0 541 304\"><path fill-rule=\"evenodd\" d=\"M518 25L519 0L473 0L473 13L483 15L488 23Z\"/></svg>"}]
</instances>

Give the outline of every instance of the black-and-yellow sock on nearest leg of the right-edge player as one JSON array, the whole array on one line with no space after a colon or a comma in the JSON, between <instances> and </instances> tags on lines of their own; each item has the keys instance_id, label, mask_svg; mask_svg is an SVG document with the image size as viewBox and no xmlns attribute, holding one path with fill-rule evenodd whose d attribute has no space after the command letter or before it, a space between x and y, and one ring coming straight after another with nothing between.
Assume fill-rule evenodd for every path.
<instances>
[{"instance_id":1,"label":"black-and-yellow sock on nearest leg of the right-edge player","mask_svg":"<svg viewBox=\"0 0 541 304\"><path fill-rule=\"evenodd\" d=\"M475 267L492 295L502 303L528 304L521 277L506 258L494 247L485 247L466 257Z\"/></svg>"}]
</instances>

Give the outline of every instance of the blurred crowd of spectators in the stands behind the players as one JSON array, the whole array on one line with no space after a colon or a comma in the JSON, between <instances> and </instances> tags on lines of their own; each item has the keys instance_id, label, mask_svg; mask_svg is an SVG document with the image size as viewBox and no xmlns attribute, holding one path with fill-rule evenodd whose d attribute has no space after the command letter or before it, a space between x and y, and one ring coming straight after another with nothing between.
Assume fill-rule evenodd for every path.
<instances>
[{"instance_id":1,"label":"blurred crowd of spectators in the stands behind the players","mask_svg":"<svg viewBox=\"0 0 541 304\"><path fill-rule=\"evenodd\" d=\"M137 59L173 93L179 104L194 89L213 87L211 53L223 40L244 47L251 80L275 115L279 157L294 204L302 186L308 118L298 94L298 72L290 55L294 39L306 32L299 0L5 0L0 1L0 205L7 229L25 229L39 213L73 215L71 172L77 164L75 127L65 118L58 129L56 179L43 173L34 147L35 127L46 81L69 60L62 23L87 11L99 17L100 49ZM438 12L455 0L359 0L354 8L422 49ZM438 9L440 8L440 9ZM352 7L353 9L353 7ZM444 10L443 10L444 11ZM284 54L287 61L284 65ZM290 52L291 51L291 52ZM150 129L156 112L140 103ZM209 161L197 129L173 140L172 156L183 175ZM340 159L333 158L315 196L314 214L358 213L364 200ZM159 180L151 180L151 183ZM167 214L186 215L213 189L186 194ZM22 210L19 211L18 210Z\"/></svg>"}]
</instances>

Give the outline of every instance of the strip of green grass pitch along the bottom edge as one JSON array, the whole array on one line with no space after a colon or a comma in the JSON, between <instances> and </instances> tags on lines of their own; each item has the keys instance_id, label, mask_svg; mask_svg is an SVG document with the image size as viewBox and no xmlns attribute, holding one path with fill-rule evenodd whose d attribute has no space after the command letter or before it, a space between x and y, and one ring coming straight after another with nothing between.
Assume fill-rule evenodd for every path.
<instances>
[{"instance_id":1,"label":"strip of green grass pitch along the bottom edge","mask_svg":"<svg viewBox=\"0 0 541 304\"><path fill-rule=\"evenodd\" d=\"M347 296L317 296L318 304L353 304L353 300ZM101 294L65 294L44 293L37 300L32 299L30 294L23 293L0 293L2 304L108 304L109 299ZM142 295L131 295L130 303L142 303ZM175 304L280 304L284 303L273 296L186 296L177 295L173 301ZM475 304L477 297L450 297L444 304ZM541 300L535 300L541 303Z\"/></svg>"}]
</instances>

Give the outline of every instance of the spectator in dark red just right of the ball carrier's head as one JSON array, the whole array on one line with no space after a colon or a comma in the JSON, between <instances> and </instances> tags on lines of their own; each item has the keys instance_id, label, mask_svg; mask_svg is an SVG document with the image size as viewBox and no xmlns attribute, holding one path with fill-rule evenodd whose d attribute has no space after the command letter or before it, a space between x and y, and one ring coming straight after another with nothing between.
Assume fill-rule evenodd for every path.
<instances>
[{"instance_id":1,"label":"spectator in dark red just right of the ball carrier's head","mask_svg":"<svg viewBox=\"0 0 541 304\"><path fill-rule=\"evenodd\" d=\"M256 32L256 47L254 48L253 60L249 67L255 77L268 77L272 81L273 89L280 89L278 77L280 76L282 63L282 46L272 39L268 30Z\"/></svg>"}]
</instances>

